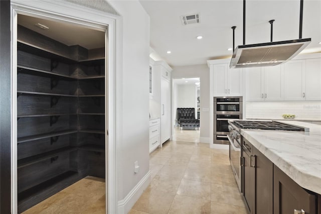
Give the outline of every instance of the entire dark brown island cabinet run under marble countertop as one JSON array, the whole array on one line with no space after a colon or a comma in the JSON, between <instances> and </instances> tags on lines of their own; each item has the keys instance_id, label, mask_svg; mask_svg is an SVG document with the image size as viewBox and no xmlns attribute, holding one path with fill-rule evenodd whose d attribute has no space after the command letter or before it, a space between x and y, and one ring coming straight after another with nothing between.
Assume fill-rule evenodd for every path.
<instances>
[{"instance_id":1,"label":"entire dark brown island cabinet run under marble countertop","mask_svg":"<svg viewBox=\"0 0 321 214\"><path fill-rule=\"evenodd\" d=\"M321 214L321 195L300 187L243 137L243 200L251 214ZM300 213L300 212L298 212Z\"/></svg>"}]
</instances>

